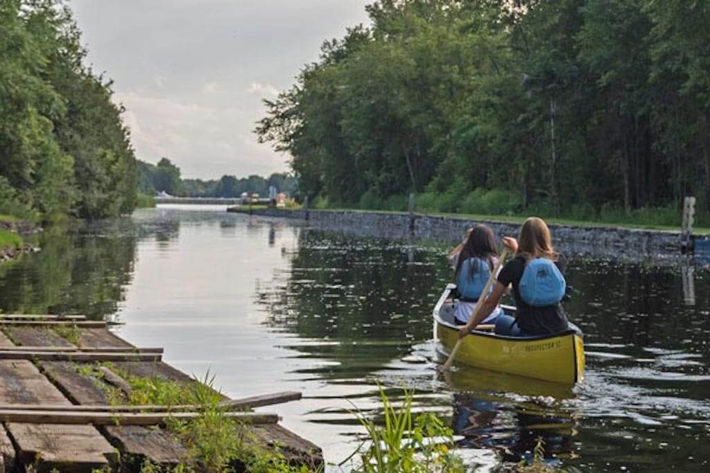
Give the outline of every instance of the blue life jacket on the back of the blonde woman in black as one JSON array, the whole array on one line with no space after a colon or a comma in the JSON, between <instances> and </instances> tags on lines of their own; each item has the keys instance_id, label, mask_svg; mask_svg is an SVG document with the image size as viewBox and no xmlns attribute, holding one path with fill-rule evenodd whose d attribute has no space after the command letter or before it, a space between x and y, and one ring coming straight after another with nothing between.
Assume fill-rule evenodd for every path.
<instances>
[{"instance_id":1,"label":"blue life jacket on the back of the blonde woman in black","mask_svg":"<svg viewBox=\"0 0 710 473\"><path fill-rule=\"evenodd\" d=\"M528 261L518 284L520 298L534 307L554 306L562 301L567 283L557 265L547 258Z\"/></svg>"}]
</instances>

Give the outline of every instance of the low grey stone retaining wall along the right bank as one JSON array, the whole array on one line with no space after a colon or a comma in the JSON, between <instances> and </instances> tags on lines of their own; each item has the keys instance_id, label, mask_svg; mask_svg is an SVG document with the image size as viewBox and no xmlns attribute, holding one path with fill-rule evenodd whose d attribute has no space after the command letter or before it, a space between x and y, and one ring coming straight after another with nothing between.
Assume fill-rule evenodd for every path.
<instances>
[{"instance_id":1,"label":"low grey stone retaining wall along the right bank","mask_svg":"<svg viewBox=\"0 0 710 473\"><path fill-rule=\"evenodd\" d=\"M425 215L421 213L354 210L283 210L230 207L227 211L256 216L293 218L334 230L356 228L359 234L391 238L419 238L457 243L466 228L485 223L499 236L516 235L523 218ZM550 223L555 241L567 250L603 255L679 256L681 235L674 230L650 230L621 226Z\"/></svg>"}]
</instances>

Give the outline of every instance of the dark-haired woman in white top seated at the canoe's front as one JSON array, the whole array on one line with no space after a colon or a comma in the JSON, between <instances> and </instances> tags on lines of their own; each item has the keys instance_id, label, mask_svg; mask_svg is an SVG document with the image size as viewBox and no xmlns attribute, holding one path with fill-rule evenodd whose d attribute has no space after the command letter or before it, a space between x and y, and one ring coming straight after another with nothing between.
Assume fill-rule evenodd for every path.
<instances>
[{"instance_id":1,"label":"dark-haired woman in white top seated at the canoe's front","mask_svg":"<svg viewBox=\"0 0 710 473\"><path fill-rule=\"evenodd\" d=\"M474 313L476 303L498 262L496 239L493 231L485 225L476 225L467 233L456 259L455 281L459 291L459 301L455 308L457 323L468 323ZM494 308L482 323L493 323L502 313Z\"/></svg>"}]
</instances>

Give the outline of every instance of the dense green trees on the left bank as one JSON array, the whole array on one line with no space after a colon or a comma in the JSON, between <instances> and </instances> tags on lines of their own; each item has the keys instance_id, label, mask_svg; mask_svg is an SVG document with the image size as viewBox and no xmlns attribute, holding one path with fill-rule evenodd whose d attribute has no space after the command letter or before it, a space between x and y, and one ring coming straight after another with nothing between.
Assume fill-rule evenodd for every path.
<instances>
[{"instance_id":1,"label":"dense green trees on the left bank","mask_svg":"<svg viewBox=\"0 0 710 473\"><path fill-rule=\"evenodd\" d=\"M0 213L131 211L136 169L111 82L61 0L0 2Z\"/></svg>"}]
</instances>

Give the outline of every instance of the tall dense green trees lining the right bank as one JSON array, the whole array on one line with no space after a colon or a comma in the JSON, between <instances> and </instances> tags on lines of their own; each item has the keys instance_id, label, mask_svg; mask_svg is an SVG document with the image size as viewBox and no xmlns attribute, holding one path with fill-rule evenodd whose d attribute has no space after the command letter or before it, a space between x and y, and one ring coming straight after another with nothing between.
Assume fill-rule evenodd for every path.
<instances>
[{"instance_id":1,"label":"tall dense green trees lining the right bank","mask_svg":"<svg viewBox=\"0 0 710 473\"><path fill-rule=\"evenodd\" d=\"M379 0L256 132L331 204L596 218L710 197L710 2Z\"/></svg>"}]
</instances>

